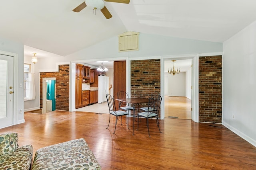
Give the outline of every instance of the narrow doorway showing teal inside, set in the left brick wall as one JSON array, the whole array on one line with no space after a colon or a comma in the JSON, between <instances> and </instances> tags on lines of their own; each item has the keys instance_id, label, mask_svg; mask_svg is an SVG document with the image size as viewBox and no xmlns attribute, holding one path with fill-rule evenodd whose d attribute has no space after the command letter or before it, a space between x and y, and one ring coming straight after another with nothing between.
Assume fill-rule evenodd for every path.
<instances>
[{"instance_id":1,"label":"narrow doorway showing teal inside, set in the left brick wall","mask_svg":"<svg viewBox=\"0 0 256 170\"><path fill-rule=\"evenodd\" d=\"M42 113L56 110L56 77L43 78L42 90L43 90Z\"/></svg>"}]
</instances>

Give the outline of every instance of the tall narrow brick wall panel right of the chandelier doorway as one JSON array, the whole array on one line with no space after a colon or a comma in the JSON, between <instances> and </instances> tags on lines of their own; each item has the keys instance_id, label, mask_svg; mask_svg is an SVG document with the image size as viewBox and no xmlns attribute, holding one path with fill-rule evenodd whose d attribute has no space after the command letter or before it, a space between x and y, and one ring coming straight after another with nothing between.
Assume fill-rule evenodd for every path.
<instances>
[{"instance_id":1,"label":"tall narrow brick wall panel right of the chandelier doorway","mask_svg":"<svg viewBox=\"0 0 256 170\"><path fill-rule=\"evenodd\" d=\"M222 56L199 57L199 121L222 123Z\"/></svg>"}]
</instances>

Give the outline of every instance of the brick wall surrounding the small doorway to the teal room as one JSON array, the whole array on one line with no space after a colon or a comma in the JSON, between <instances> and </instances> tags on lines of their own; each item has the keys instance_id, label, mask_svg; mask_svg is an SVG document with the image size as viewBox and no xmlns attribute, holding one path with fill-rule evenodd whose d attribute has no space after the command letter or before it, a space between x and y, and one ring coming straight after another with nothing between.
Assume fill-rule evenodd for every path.
<instances>
[{"instance_id":1,"label":"brick wall surrounding the small doorway to the teal room","mask_svg":"<svg viewBox=\"0 0 256 170\"><path fill-rule=\"evenodd\" d=\"M56 78L56 110L69 110L69 64L59 65L59 72L40 73L40 107L42 108L42 80Z\"/></svg>"}]
</instances>

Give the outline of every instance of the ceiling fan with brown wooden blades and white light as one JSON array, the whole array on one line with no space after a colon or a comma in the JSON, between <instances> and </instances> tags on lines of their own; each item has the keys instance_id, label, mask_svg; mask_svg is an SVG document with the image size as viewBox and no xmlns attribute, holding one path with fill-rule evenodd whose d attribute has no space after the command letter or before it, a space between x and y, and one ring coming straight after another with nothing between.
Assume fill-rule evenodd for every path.
<instances>
[{"instance_id":1,"label":"ceiling fan with brown wooden blades and white light","mask_svg":"<svg viewBox=\"0 0 256 170\"><path fill-rule=\"evenodd\" d=\"M123 4L129 4L130 0L104 0L106 2L117 2ZM82 4L78 5L73 11L80 12L86 6L93 8L93 10L100 10L102 14L106 17L106 19L112 18L112 15L106 8L103 0L85 0Z\"/></svg>"}]
</instances>

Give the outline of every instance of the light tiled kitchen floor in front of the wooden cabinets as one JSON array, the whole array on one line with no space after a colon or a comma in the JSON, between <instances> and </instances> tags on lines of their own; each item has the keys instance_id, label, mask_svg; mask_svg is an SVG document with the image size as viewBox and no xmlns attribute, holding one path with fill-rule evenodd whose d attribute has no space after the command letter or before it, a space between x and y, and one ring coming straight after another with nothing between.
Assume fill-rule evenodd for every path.
<instances>
[{"instance_id":1,"label":"light tiled kitchen floor in front of the wooden cabinets","mask_svg":"<svg viewBox=\"0 0 256 170\"><path fill-rule=\"evenodd\" d=\"M76 109L76 111L86 111L93 113L106 113L109 114L108 102L96 103L89 106L81 107Z\"/></svg>"}]
</instances>

